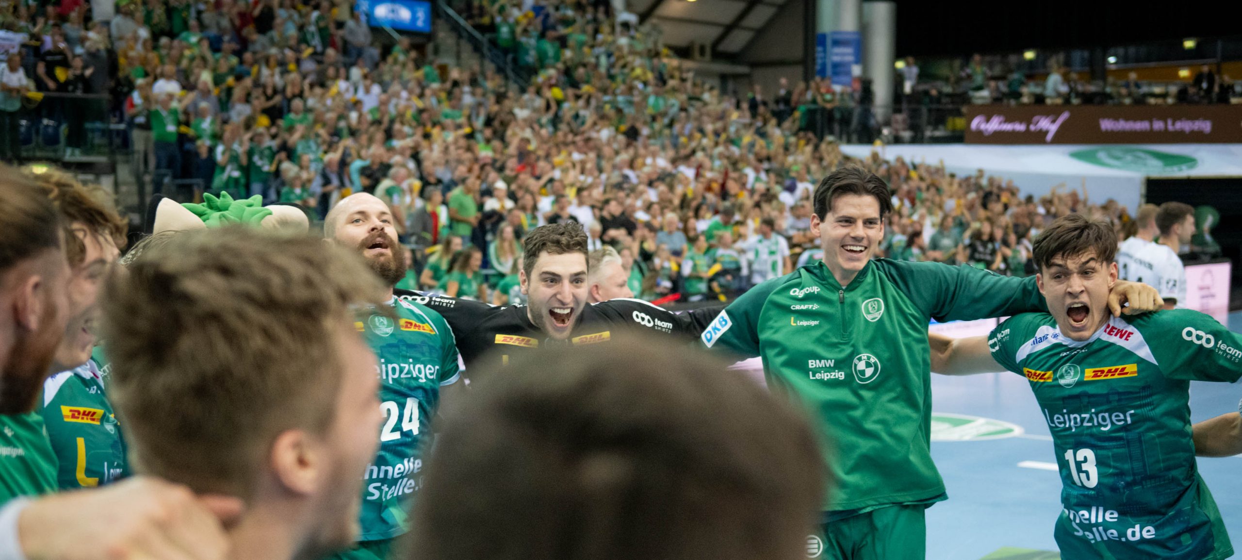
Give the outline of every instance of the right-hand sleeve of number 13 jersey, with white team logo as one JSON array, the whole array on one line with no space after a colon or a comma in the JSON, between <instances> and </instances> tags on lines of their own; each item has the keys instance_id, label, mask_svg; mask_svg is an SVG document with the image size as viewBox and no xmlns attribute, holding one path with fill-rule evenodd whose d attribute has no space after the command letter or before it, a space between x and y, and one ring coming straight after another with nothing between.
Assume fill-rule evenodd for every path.
<instances>
[{"instance_id":1,"label":"right-hand sleeve of number 13 jersey, with white team logo","mask_svg":"<svg viewBox=\"0 0 1242 560\"><path fill-rule=\"evenodd\" d=\"M1139 315L1130 325L1167 377L1225 382L1242 377L1242 335L1211 315L1169 309Z\"/></svg>"}]
</instances>

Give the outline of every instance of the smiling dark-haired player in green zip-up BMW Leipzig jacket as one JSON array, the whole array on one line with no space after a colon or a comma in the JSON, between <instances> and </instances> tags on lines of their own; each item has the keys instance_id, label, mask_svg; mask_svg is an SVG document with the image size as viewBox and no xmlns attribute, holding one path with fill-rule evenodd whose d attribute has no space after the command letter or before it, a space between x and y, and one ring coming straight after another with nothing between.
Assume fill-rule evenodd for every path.
<instances>
[{"instance_id":1,"label":"smiling dark-haired player in green zip-up BMW Leipzig jacket","mask_svg":"<svg viewBox=\"0 0 1242 560\"><path fill-rule=\"evenodd\" d=\"M972 267L872 258L892 211L884 181L838 169L815 190L823 261L756 286L703 333L760 356L768 386L800 401L827 443L825 558L925 556L924 510L946 498L930 452L929 319L1045 310L1035 279ZM1114 293L1154 309L1150 287Z\"/></svg>"}]
</instances>

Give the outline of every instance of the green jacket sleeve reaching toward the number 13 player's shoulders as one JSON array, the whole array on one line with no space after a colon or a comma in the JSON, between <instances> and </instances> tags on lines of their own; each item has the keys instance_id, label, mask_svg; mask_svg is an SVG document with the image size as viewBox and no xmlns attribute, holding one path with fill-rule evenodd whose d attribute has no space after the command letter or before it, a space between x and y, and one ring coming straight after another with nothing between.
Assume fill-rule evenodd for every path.
<instances>
[{"instance_id":1,"label":"green jacket sleeve reaching toward the number 13 player's shoulders","mask_svg":"<svg viewBox=\"0 0 1242 560\"><path fill-rule=\"evenodd\" d=\"M877 260L893 282L938 322L1047 312L1035 277L1013 278L970 266Z\"/></svg>"}]
</instances>

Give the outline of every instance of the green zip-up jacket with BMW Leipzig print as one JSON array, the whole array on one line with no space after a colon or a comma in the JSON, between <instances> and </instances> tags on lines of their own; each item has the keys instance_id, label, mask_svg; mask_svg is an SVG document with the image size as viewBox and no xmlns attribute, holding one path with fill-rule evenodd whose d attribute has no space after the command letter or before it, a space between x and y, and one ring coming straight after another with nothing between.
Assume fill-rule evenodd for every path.
<instances>
[{"instance_id":1,"label":"green zip-up jacket with BMW Leipzig print","mask_svg":"<svg viewBox=\"0 0 1242 560\"><path fill-rule=\"evenodd\" d=\"M932 462L929 319L1047 310L1035 278L876 258L842 287L823 262L725 308L703 344L760 356L768 386L801 405L823 445L825 512L945 498Z\"/></svg>"}]
</instances>

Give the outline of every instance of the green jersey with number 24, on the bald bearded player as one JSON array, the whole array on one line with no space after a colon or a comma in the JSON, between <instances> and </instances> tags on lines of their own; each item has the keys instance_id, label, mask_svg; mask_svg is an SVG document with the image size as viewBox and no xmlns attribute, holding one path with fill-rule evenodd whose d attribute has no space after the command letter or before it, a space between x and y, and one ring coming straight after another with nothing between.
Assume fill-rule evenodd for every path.
<instances>
[{"instance_id":1,"label":"green jersey with number 24, on the bald bearded player","mask_svg":"<svg viewBox=\"0 0 1242 560\"><path fill-rule=\"evenodd\" d=\"M409 529L411 494L422 485L424 438L440 406L440 387L457 382L463 369L448 323L414 302L394 299L396 319L364 313L355 323L379 359L380 451L366 467L361 536L391 539Z\"/></svg>"}]
</instances>

